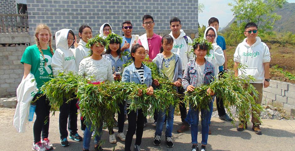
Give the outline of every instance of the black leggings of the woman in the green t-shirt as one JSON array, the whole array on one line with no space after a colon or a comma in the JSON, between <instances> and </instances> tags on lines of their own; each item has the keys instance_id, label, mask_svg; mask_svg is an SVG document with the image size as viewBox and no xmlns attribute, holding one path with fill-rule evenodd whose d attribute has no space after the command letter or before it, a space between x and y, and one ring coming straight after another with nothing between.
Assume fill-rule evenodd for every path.
<instances>
[{"instance_id":1,"label":"black leggings of the woman in the green t-shirt","mask_svg":"<svg viewBox=\"0 0 295 151\"><path fill-rule=\"evenodd\" d=\"M37 99L37 97L39 97L40 95L41 94L36 94L33 98L33 101L36 101L36 120L33 126L34 143L40 142L41 132L42 139L48 138L49 113L51 106L49 105L49 101L46 99L45 95Z\"/></svg>"}]
</instances>

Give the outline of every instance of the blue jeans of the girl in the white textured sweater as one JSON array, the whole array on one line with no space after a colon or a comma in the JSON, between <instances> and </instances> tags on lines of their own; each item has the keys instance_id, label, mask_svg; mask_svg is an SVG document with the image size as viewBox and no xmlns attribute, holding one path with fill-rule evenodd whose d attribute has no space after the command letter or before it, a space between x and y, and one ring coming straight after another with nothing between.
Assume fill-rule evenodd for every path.
<instances>
[{"instance_id":1,"label":"blue jeans of the girl in the white textured sweater","mask_svg":"<svg viewBox=\"0 0 295 151\"><path fill-rule=\"evenodd\" d=\"M95 135L95 137L94 137L94 144L95 145L99 145L101 135L102 135L102 125L103 125L103 123L101 123L101 126L99 127L99 130L98 130L99 134ZM86 129L84 131L84 139L83 139L83 148L84 149L89 149L92 132L93 131L91 131L91 124L88 124L88 126L86 126Z\"/></svg>"}]
</instances>

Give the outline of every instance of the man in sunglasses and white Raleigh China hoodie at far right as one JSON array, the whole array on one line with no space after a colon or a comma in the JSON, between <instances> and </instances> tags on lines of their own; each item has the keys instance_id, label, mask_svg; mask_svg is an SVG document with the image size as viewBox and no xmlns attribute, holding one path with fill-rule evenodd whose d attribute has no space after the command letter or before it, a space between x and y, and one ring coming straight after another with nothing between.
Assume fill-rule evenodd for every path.
<instances>
[{"instance_id":1,"label":"man in sunglasses and white Raleigh China hoodie at far right","mask_svg":"<svg viewBox=\"0 0 295 151\"><path fill-rule=\"evenodd\" d=\"M271 56L267 45L257 37L258 28L255 23L245 25L244 35L247 38L238 45L233 55L235 76L242 74L254 76L255 81L250 81L250 83L259 92L258 98L255 98L255 102L261 104L263 85L265 88L269 86L269 62L271 61ZM239 64L244 64L247 68L238 71L236 69ZM259 110L255 112L260 116ZM256 134L261 135L260 122L257 118L253 117L253 113L251 122L253 123L252 130ZM240 121L237 130L244 131L244 127L247 128L247 123Z\"/></svg>"}]
</instances>

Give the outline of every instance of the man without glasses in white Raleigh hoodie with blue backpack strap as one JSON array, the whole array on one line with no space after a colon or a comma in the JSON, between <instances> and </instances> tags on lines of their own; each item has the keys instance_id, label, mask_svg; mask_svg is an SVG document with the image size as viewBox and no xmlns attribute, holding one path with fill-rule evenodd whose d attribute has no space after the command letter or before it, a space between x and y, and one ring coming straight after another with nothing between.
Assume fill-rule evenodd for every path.
<instances>
[{"instance_id":1,"label":"man without glasses in white Raleigh hoodie with blue backpack strap","mask_svg":"<svg viewBox=\"0 0 295 151\"><path fill-rule=\"evenodd\" d=\"M172 36L174 42L173 42L173 48L171 52L177 54L181 59L181 66L182 66L182 72L185 70L185 66L188 62L194 59L193 53L189 53L192 49L192 46L189 45L189 43L192 43L189 36L185 35L185 32L181 29L181 21L179 18L174 17L170 20L170 36ZM180 94L184 93L184 89L182 87L178 88L178 92ZM182 123L185 123L185 117L186 117L186 106L185 103L179 104L179 110L181 115L181 121Z\"/></svg>"}]
</instances>

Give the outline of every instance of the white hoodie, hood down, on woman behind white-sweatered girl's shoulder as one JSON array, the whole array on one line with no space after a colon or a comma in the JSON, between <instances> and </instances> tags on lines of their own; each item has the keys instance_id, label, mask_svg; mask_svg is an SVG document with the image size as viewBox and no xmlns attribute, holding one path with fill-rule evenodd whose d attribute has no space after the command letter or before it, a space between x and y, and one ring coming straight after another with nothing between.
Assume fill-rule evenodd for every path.
<instances>
[{"instance_id":1,"label":"white hoodie, hood down, on woman behind white-sweatered girl's shoulder","mask_svg":"<svg viewBox=\"0 0 295 151\"><path fill-rule=\"evenodd\" d=\"M81 60L88 57L88 55L90 54L90 49L86 48L85 46L86 46L86 42L80 39L78 43L78 47L76 48L76 53L75 53L77 71L79 70L79 64Z\"/></svg>"}]
</instances>

